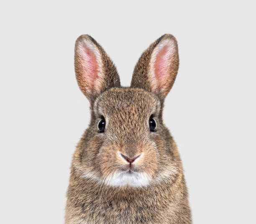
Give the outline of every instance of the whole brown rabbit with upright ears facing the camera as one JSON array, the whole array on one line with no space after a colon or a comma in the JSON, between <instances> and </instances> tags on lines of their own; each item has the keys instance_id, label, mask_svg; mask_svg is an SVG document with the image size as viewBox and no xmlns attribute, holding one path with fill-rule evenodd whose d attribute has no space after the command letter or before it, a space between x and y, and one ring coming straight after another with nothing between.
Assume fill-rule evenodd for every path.
<instances>
[{"instance_id":1,"label":"whole brown rabbit with upright ears facing the camera","mask_svg":"<svg viewBox=\"0 0 256 224\"><path fill-rule=\"evenodd\" d=\"M91 117L72 159L65 224L191 224L182 162L162 118L177 40L165 34L152 43L130 87L90 35L76 40L74 68Z\"/></svg>"}]
</instances>

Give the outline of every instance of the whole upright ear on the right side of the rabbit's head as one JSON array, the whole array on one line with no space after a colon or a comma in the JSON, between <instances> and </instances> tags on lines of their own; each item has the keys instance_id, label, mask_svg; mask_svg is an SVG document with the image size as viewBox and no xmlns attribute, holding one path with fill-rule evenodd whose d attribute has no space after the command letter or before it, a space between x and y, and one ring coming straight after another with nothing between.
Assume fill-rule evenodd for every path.
<instances>
[{"instance_id":1,"label":"whole upright ear on the right side of the rabbit's head","mask_svg":"<svg viewBox=\"0 0 256 224\"><path fill-rule=\"evenodd\" d=\"M133 71L131 87L144 88L164 100L172 88L178 68L177 40L171 34L165 34L141 55Z\"/></svg>"}]
</instances>

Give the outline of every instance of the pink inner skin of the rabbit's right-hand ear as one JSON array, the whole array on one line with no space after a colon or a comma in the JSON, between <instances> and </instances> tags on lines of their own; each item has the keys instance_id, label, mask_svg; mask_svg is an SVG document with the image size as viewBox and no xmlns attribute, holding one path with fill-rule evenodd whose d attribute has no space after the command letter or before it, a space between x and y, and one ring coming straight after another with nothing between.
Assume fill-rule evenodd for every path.
<instances>
[{"instance_id":1,"label":"pink inner skin of the rabbit's right-hand ear","mask_svg":"<svg viewBox=\"0 0 256 224\"><path fill-rule=\"evenodd\" d=\"M169 65L171 60L170 47L165 45L156 55L154 63L155 78L158 81L158 88L162 88L169 75Z\"/></svg>"}]
</instances>

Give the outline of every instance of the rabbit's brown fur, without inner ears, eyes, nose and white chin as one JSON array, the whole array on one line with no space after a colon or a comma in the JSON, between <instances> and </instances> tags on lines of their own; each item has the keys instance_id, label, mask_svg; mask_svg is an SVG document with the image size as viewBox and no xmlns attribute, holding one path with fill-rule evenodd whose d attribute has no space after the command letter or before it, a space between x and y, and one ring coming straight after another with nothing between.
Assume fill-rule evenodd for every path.
<instances>
[{"instance_id":1,"label":"rabbit's brown fur, without inner ears, eyes, nose and white chin","mask_svg":"<svg viewBox=\"0 0 256 224\"><path fill-rule=\"evenodd\" d=\"M94 39L88 35L77 39L76 46L79 41L92 41L100 49L105 73L101 92L89 94L83 86L86 81L79 70L79 56L75 54L77 81L90 100L92 113L89 128L73 155L65 224L192 223L182 163L174 139L162 121L164 97L177 75L177 49L164 89L151 91L147 76L151 53L165 38L177 45L172 35L156 40L139 59L130 88L120 87L115 66ZM148 130L152 114L156 132ZM105 133L97 132L101 116L108 123ZM148 186L109 186L104 182L114 171L126 169L118 151L130 158L144 153L134 170L148 174Z\"/></svg>"}]
</instances>

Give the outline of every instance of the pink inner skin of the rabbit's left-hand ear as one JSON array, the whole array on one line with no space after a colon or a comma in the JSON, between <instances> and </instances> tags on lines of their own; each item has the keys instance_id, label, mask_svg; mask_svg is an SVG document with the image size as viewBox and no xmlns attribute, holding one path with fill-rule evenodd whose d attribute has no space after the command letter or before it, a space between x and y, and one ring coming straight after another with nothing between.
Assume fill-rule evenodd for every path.
<instances>
[{"instance_id":1,"label":"pink inner skin of the rabbit's left-hand ear","mask_svg":"<svg viewBox=\"0 0 256 224\"><path fill-rule=\"evenodd\" d=\"M95 81L98 78L99 65L97 63L97 57L92 49L84 44L82 55L82 66L87 78L88 88L94 89Z\"/></svg>"}]
</instances>

